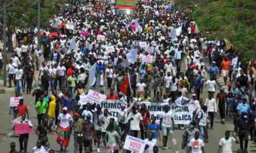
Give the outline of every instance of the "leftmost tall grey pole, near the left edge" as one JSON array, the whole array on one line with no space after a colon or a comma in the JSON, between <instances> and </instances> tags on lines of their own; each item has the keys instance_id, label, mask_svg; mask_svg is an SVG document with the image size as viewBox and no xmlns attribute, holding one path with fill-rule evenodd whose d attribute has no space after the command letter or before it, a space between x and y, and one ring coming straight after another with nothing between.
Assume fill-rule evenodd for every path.
<instances>
[{"instance_id":1,"label":"leftmost tall grey pole, near the left edge","mask_svg":"<svg viewBox=\"0 0 256 153\"><path fill-rule=\"evenodd\" d=\"M6 40L7 40L7 38L6 38L6 2L5 2L5 3L3 3L3 86L4 87L6 87L6 78L7 78Z\"/></svg>"}]
</instances>

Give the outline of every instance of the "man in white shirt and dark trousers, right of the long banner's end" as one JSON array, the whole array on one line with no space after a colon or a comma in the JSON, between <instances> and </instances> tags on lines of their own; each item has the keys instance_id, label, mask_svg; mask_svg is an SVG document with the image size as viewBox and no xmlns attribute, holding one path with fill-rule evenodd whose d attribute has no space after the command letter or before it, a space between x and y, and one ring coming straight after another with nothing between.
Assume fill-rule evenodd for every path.
<instances>
[{"instance_id":1,"label":"man in white shirt and dark trousers, right of the long banner's end","mask_svg":"<svg viewBox=\"0 0 256 153\"><path fill-rule=\"evenodd\" d=\"M217 114L217 104L212 95L208 95L208 98L205 100L205 105L207 105L207 112L210 117L210 128L213 129L214 114Z\"/></svg>"}]
</instances>

